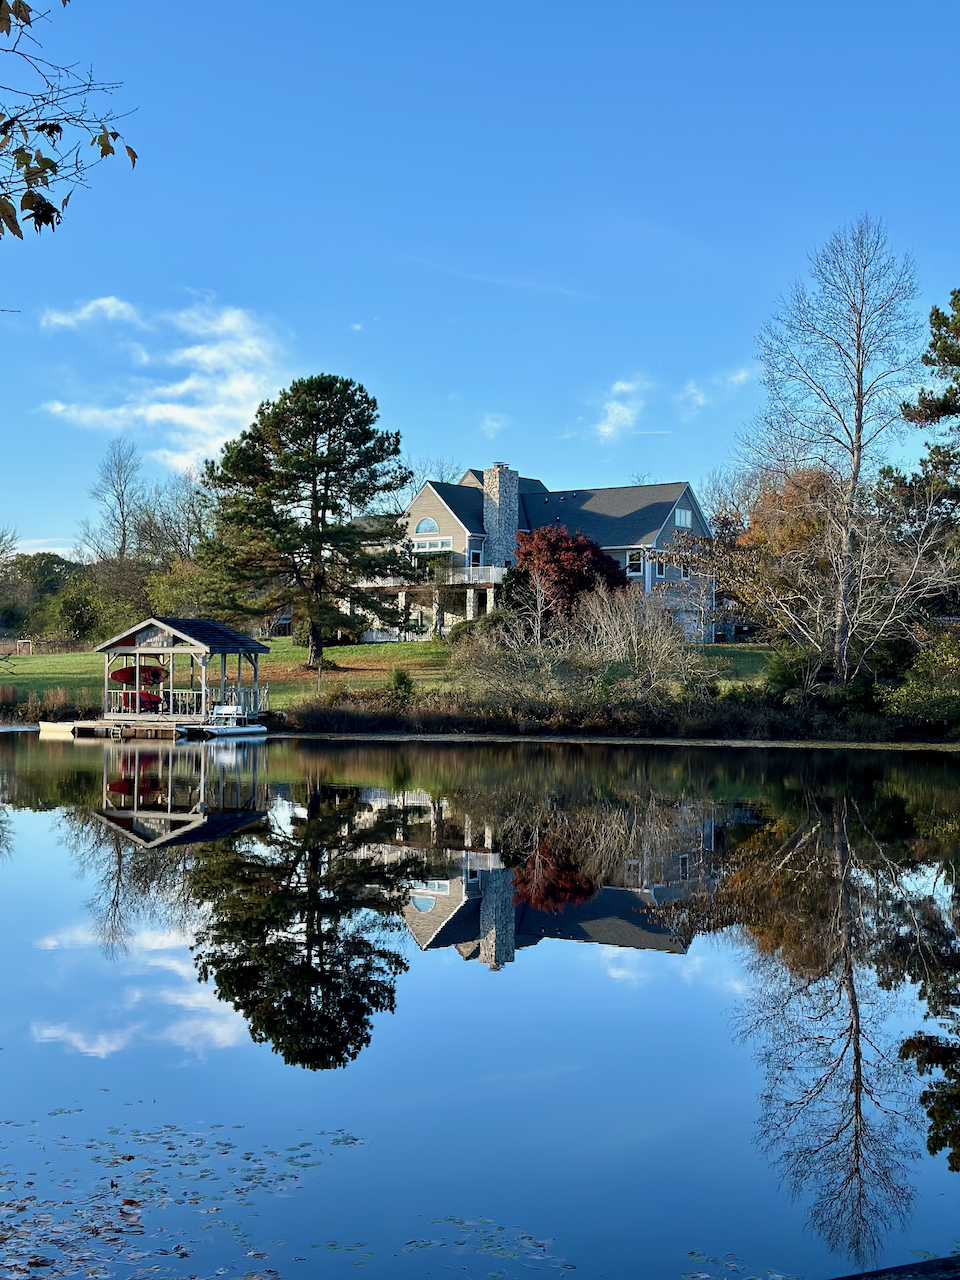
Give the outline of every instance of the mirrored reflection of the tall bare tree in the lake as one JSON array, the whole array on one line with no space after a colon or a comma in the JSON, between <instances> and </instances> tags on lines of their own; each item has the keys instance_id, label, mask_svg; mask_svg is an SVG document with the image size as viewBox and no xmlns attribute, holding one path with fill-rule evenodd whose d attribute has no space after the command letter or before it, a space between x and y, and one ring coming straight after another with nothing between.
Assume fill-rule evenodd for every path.
<instances>
[{"instance_id":1,"label":"mirrored reflection of the tall bare tree in the lake","mask_svg":"<svg viewBox=\"0 0 960 1280\"><path fill-rule=\"evenodd\" d=\"M771 852L754 865L769 909L755 988L739 1015L741 1037L760 1042L767 1075L759 1142L795 1196L812 1193L810 1222L827 1244L863 1262L906 1225L915 1157L913 1092L896 1046L881 1039L883 1001L870 966L883 868L852 852L846 797L812 801ZM815 910L781 923L799 890L815 892ZM804 924L813 946L809 936L799 945Z\"/></svg>"}]
</instances>

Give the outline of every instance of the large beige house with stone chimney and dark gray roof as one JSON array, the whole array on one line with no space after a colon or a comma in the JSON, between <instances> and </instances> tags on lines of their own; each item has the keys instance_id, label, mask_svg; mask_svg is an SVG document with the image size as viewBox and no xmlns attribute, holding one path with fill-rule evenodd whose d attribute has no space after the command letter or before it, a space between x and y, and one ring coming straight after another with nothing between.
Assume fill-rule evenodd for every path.
<instances>
[{"instance_id":1,"label":"large beige house with stone chimney and dark gray roof","mask_svg":"<svg viewBox=\"0 0 960 1280\"><path fill-rule=\"evenodd\" d=\"M643 590L680 584L685 570L658 556L677 534L709 538L710 526L685 480L673 484L618 485L612 489L550 490L521 476L506 462L470 467L457 484L428 480L404 513L413 556L445 562L443 582L462 589L461 617L493 608L494 593L513 563L517 534L545 526L585 534L622 564ZM447 591L449 600L449 590ZM403 600L401 603L404 603ZM411 616L413 632L443 630L439 603ZM369 631L366 639L397 639Z\"/></svg>"}]
</instances>

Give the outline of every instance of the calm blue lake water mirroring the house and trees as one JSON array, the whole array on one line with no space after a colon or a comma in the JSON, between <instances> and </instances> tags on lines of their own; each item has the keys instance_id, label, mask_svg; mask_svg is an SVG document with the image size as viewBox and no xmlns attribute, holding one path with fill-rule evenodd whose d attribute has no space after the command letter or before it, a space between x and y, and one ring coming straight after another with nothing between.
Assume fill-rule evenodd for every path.
<instances>
[{"instance_id":1,"label":"calm blue lake water mirroring the house and trees","mask_svg":"<svg viewBox=\"0 0 960 1280\"><path fill-rule=\"evenodd\" d=\"M959 785L933 753L0 735L0 1272L951 1253Z\"/></svg>"}]
</instances>

